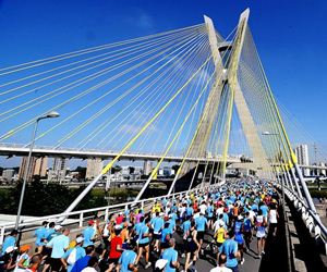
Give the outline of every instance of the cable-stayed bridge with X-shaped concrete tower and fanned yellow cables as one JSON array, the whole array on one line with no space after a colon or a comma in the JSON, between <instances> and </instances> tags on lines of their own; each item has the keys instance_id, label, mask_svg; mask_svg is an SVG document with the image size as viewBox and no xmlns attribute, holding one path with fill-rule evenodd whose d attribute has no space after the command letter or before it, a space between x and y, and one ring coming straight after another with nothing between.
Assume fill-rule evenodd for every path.
<instances>
[{"instance_id":1,"label":"cable-stayed bridge with X-shaped concrete tower and fanned yellow cables","mask_svg":"<svg viewBox=\"0 0 327 272\"><path fill-rule=\"evenodd\" d=\"M325 243L326 227L267 81L249 14L241 14L226 38L205 16L204 24L0 69L1 154L25 154L34 144L28 136L34 125L59 111L59 119L44 121L37 134L35 128L36 154L111 159L63 214L53 215L62 221L121 159L157 161L136 203L164 161L179 162L169 197L177 184L189 190L228 185L227 165L240 162L230 154L242 153L258 178L278 183ZM209 182L194 182L199 174ZM81 221L84 213L76 212ZM2 235L9 226L2 226Z\"/></svg>"}]
</instances>

